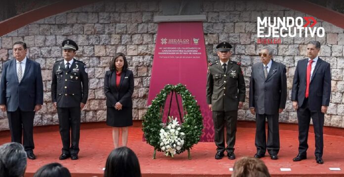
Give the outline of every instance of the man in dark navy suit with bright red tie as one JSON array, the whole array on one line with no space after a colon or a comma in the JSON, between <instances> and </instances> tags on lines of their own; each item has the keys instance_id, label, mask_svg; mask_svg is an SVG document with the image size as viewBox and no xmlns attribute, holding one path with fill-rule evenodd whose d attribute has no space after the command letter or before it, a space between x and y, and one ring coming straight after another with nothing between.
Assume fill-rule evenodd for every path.
<instances>
[{"instance_id":1,"label":"man in dark navy suit with bright red tie","mask_svg":"<svg viewBox=\"0 0 344 177\"><path fill-rule=\"evenodd\" d=\"M315 160L323 164L323 126L324 115L331 98L330 64L318 57L319 41L307 45L308 58L300 60L295 70L292 90L293 107L298 112L299 154L293 161L307 158L307 139L310 118L315 133Z\"/></svg>"}]
</instances>

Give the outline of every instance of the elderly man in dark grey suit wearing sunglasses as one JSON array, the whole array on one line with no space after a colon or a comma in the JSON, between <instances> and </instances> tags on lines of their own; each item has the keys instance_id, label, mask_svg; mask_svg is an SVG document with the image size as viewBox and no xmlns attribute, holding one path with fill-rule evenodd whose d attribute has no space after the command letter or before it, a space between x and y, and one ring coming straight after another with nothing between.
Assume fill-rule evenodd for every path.
<instances>
[{"instance_id":1,"label":"elderly man in dark grey suit wearing sunglasses","mask_svg":"<svg viewBox=\"0 0 344 177\"><path fill-rule=\"evenodd\" d=\"M273 49L264 47L259 53L262 63L252 66L250 81L250 109L256 114L256 158L265 156L266 149L272 160L278 159L280 148L278 118L287 101L286 66L272 60ZM267 142L265 135L267 119Z\"/></svg>"}]
</instances>

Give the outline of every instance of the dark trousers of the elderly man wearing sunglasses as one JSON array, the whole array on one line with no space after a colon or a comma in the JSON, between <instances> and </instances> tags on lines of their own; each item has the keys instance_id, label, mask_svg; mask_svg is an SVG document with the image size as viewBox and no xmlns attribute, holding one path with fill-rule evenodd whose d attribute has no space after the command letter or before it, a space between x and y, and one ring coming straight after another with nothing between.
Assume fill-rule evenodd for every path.
<instances>
[{"instance_id":1,"label":"dark trousers of the elderly man wearing sunglasses","mask_svg":"<svg viewBox=\"0 0 344 177\"><path fill-rule=\"evenodd\" d=\"M265 134L265 117L267 119L267 141ZM270 155L277 155L280 149L279 127L277 114L257 114L256 113L256 140L258 154L265 154L266 149Z\"/></svg>"}]
</instances>

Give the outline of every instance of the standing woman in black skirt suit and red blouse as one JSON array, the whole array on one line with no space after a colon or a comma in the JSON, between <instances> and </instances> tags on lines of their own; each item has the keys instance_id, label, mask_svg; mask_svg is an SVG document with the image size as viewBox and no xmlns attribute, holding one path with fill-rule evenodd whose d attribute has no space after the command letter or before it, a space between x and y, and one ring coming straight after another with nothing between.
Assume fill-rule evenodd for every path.
<instances>
[{"instance_id":1,"label":"standing woman in black skirt suit and red blouse","mask_svg":"<svg viewBox=\"0 0 344 177\"><path fill-rule=\"evenodd\" d=\"M106 96L106 124L112 128L115 148L119 147L119 133L122 128L122 145L127 146L128 127L132 125L132 100L134 76L128 70L127 58L123 53L116 53L110 62L110 71L104 77Z\"/></svg>"}]
</instances>

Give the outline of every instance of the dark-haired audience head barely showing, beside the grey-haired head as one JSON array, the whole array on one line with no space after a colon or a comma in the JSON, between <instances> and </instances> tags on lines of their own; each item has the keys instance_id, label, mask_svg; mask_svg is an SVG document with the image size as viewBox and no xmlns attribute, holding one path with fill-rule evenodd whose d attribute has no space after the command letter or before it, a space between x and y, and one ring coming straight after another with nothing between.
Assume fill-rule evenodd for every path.
<instances>
[{"instance_id":1,"label":"dark-haired audience head barely showing, beside the grey-haired head","mask_svg":"<svg viewBox=\"0 0 344 177\"><path fill-rule=\"evenodd\" d=\"M71 177L71 173L61 164L51 163L38 169L34 177Z\"/></svg>"}]
</instances>

